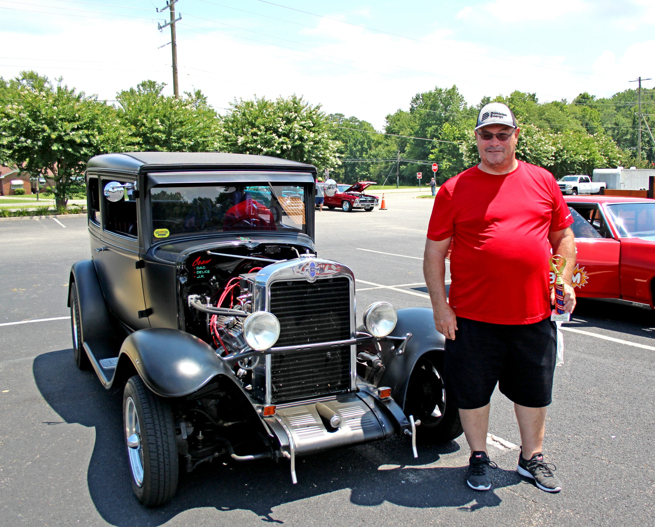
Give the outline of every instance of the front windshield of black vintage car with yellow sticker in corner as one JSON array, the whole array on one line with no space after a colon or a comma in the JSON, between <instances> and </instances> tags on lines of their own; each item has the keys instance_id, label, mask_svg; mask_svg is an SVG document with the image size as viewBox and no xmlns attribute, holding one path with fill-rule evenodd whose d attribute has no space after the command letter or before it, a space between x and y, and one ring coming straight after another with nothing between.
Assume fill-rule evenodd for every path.
<instances>
[{"instance_id":1,"label":"front windshield of black vintage car with yellow sticker in corner","mask_svg":"<svg viewBox=\"0 0 655 527\"><path fill-rule=\"evenodd\" d=\"M166 186L150 191L153 237L208 231L307 233L309 186Z\"/></svg>"}]
</instances>

